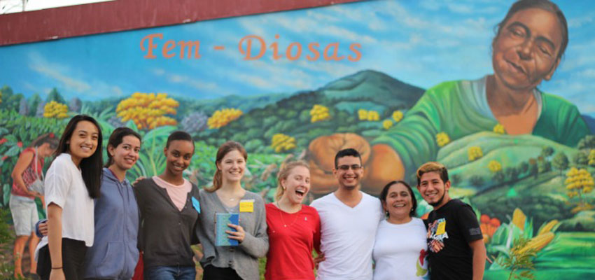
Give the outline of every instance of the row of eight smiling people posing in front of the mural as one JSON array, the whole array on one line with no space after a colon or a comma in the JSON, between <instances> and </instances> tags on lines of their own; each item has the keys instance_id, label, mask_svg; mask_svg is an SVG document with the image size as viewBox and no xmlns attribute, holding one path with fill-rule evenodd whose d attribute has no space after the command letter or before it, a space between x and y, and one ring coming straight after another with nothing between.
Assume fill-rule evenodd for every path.
<instances>
[{"instance_id":1,"label":"row of eight smiling people posing in front of the mural","mask_svg":"<svg viewBox=\"0 0 595 280\"><path fill-rule=\"evenodd\" d=\"M435 209L426 230L414 218L416 198L404 181L387 183L380 198L360 191L364 169L353 148L335 155L339 188L307 206L307 163L283 162L275 200L265 204L241 186L248 154L235 141L219 147L213 184L202 189L183 177L195 151L186 132L167 138L164 172L134 184L126 172L139 158L141 136L119 127L106 147L102 168L99 124L78 115L56 146L37 148L37 154L56 155L44 181L48 221L37 225L45 235L36 246L41 279L131 279L139 258L144 279L195 279L191 246L199 243L203 279L260 279L258 258L265 256L265 279L271 280L395 279L395 272L402 279L428 279L430 273L433 279L482 278L485 248L477 217L449 198L447 170L437 162L417 173L417 189ZM216 245L221 213L239 215L225 231L237 246Z\"/></svg>"}]
</instances>

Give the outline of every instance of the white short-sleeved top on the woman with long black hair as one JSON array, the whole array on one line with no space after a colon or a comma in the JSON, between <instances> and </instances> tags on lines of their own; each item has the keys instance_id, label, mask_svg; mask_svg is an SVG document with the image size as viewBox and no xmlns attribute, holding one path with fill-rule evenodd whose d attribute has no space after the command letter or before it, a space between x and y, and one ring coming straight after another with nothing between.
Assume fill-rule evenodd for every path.
<instances>
[{"instance_id":1,"label":"white short-sleeved top on the woman with long black hair","mask_svg":"<svg viewBox=\"0 0 595 280\"><path fill-rule=\"evenodd\" d=\"M44 188L45 207L54 203L62 208L62 238L85 241L85 246L92 246L94 204L70 154L62 153L52 162L45 175Z\"/></svg>"}]
</instances>

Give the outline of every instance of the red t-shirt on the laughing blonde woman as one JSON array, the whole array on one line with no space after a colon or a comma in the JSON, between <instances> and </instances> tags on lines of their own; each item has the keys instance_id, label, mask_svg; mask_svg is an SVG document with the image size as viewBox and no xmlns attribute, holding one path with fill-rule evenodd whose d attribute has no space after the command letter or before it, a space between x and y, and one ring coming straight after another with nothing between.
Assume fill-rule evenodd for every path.
<instances>
[{"instance_id":1,"label":"red t-shirt on the laughing blonde woman","mask_svg":"<svg viewBox=\"0 0 595 280\"><path fill-rule=\"evenodd\" d=\"M320 251L320 216L313 207L302 205L294 214L274 204L267 209L267 280L314 280L312 249ZM285 226L286 225L286 226Z\"/></svg>"}]
</instances>

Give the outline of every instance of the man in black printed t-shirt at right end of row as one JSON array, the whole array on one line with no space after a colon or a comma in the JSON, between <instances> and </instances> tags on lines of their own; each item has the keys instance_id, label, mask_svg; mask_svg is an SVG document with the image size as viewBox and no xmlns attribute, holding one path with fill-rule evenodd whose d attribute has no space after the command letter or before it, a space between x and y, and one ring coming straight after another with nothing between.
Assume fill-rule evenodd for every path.
<instances>
[{"instance_id":1,"label":"man in black printed t-shirt at right end of row","mask_svg":"<svg viewBox=\"0 0 595 280\"><path fill-rule=\"evenodd\" d=\"M468 204L451 200L444 165L426 162L417 169L417 190L434 207L428 216L430 279L479 280L486 247L477 216Z\"/></svg>"}]
</instances>

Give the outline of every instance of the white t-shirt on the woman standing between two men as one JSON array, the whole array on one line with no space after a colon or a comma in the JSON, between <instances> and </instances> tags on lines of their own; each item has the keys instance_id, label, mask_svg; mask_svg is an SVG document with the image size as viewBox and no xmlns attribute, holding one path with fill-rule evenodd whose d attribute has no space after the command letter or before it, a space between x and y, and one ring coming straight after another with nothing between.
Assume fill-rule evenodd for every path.
<instances>
[{"instance_id":1,"label":"white t-shirt on the woman standing between two men","mask_svg":"<svg viewBox=\"0 0 595 280\"><path fill-rule=\"evenodd\" d=\"M421 219L402 225L381 221L372 253L374 280L428 279L427 253L426 226Z\"/></svg>"}]
</instances>

